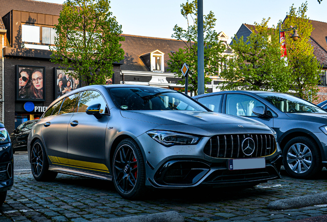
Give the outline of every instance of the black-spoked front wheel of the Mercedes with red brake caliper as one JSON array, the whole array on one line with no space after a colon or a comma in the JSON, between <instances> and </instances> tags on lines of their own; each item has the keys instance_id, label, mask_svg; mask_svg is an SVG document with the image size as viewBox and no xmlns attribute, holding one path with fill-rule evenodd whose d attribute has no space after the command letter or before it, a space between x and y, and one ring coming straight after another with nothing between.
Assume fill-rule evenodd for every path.
<instances>
[{"instance_id":1,"label":"black-spoked front wheel of the Mercedes with red brake caliper","mask_svg":"<svg viewBox=\"0 0 327 222\"><path fill-rule=\"evenodd\" d=\"M123 139L113 159L114 186L125 199L137 199L146 192L146 170L142 152L132 139Z\"/></svg>"}]
</instances>

